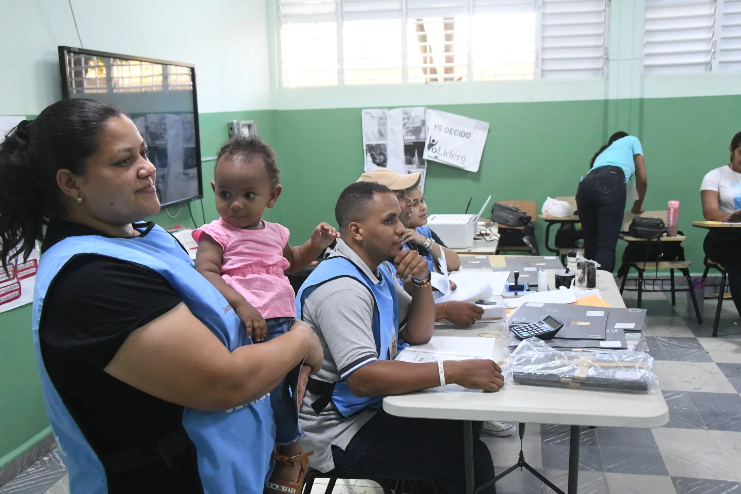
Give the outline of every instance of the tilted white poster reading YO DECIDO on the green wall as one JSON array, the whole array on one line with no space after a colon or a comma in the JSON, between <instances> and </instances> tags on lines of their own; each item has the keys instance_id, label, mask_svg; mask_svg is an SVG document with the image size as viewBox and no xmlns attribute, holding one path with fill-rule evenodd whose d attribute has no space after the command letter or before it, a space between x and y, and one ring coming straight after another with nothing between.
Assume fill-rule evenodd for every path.
<instances>
[{"instance_id":1,"label":"tilted white poster reading YO DECIDO on the green wall","mask_svg":"<svg viewBox=\"0 0 741 494\"><path fill-rule=\"evenodd\" d=\"M426 112L426 142L423 157L466 171L479 171L488 122L445 111Z\"/></svg>"}]
</instances>

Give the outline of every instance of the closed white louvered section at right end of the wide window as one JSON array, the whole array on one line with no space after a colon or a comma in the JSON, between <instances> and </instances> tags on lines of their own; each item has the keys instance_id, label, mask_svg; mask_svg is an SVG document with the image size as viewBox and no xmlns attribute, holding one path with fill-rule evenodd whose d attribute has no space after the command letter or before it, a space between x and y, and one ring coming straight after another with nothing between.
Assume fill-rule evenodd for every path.
<instances>
[{"instance_id":1,"label":"closed white louvered section at right end of the wide window","mask_svg":"<svg viewBox=\"0 0 741 494\"><path fill-rule=\"evenodd\" d=\"M602 76L607 7L606 0L542 0L543 78Z\"/></svg>"}]
</instances>

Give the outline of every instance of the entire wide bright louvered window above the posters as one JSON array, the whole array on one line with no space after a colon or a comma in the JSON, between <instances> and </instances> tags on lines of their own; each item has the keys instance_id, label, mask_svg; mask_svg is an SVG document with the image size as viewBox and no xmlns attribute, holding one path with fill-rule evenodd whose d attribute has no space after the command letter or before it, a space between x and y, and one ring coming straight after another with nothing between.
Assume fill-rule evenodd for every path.
<instances>
[{"instance_id":1,"label":"entire wide bright louvered window above the posters","mask_svg":"<svg viewBox=\"0 0 741 494\"><path fill-rule=\"evenodd\" d=\"M608 1L279 0L282 85L599 77Z\"/></svg>"}]
</instances>

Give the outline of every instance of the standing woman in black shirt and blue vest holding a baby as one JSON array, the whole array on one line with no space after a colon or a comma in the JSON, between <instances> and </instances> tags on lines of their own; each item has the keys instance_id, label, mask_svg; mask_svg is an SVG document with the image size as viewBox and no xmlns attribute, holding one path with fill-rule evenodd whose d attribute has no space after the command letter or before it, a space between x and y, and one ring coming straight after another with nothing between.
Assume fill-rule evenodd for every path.
<instances>
[{"instance_id":1,"label":"standing woman in black shirt and blue vest holding a baby","mask_svg":"<svg viewBox=\"0 0 741 494\"><path fill-rule=\"evenodd\" d=\"M265 395L322 347L305 324L250 344L239 317L154 223L136 125L56 102L0 144L0 261L41 240L33 340L72 493L258 493L275 422Z\"/></svg>"}]
</instances>

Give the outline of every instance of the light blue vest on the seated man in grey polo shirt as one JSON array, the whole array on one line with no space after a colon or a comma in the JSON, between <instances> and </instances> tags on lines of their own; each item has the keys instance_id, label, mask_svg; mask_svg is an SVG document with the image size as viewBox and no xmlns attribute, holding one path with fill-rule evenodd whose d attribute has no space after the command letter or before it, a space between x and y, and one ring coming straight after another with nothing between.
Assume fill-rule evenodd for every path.
<instances>
[{"instance_id":1,"label":"light blue vest on the seated man in grey polo shirt","mask_svg":"<svg viewBox=\"0 0 741 494\"><path fill-rule=\"evenodd\" d=\"M302 309L306 298L319 286L341 277L353 278L362 283L373 295L373 340L379 360L393 357L399 348L399 301L396 298L396 277L382 264L378 268L381 283L373 283L370 278L349 259L342 256L329 257L319 263L309 274L296 294L296 318L302 318ZM379 408L383 397L359 398L350 391L345 381L334 383L332 402L340 415L348 417L365 407Z\"/></svg>"}]
</instances>

